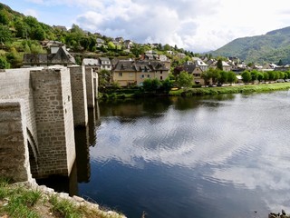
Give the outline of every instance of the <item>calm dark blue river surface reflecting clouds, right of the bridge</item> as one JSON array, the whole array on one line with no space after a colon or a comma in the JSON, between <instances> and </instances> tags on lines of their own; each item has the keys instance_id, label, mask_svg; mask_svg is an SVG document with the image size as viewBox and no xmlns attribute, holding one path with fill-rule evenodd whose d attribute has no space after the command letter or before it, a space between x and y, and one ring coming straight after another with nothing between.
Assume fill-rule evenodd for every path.
<instances>
[{"instance_id":1,"label":"calm dark blue river surface reflecting clouds, right of the bridge","mask_svg":"<svg viewBox=\"0 0 290 218\"><path fill-rule=\"evenodd\" d=\"M290 212L289 92L99 107L79 195L129 218Z\"/></svg>"}]
</instances>

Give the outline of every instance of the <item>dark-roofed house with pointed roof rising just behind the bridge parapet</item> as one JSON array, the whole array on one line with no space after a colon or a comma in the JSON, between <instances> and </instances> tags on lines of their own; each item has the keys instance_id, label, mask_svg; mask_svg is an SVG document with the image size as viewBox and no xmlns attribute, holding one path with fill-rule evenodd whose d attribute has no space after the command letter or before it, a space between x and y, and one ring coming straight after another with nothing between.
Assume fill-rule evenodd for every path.
<instances>
[{"instance_id":1,"label":"dark-roofed house with pointed roof rising just behind the bridge parapet","mask_svg":"<svg viewBox=\"0 0 290 218\"><path fill-rule=\"evenodd\" d=\"M24 54L23 67L50 66L50 65L75 65L75 59L65 46L51 46L51 54Z\"/></svg>"}]
</instances>

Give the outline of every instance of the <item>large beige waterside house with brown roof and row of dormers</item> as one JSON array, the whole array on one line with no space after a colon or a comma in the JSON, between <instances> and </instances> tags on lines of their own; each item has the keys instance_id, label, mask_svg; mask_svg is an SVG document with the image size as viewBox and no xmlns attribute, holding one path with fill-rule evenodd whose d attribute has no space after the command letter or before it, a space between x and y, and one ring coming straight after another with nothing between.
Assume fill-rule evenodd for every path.
<instances>
[{"instance_id":1,"label":"large beige waterside house with brown roof and row of dormers","mask_svg":"<svg viewBox=\"0 0 290 218\"><path fill-rule=\"evenodd\" d=\"M145 79L165 80L169 67L160 61L120 60L112 71L112 80L121 86L130 84L142 85Z\"/></svg>"}]
</instances>

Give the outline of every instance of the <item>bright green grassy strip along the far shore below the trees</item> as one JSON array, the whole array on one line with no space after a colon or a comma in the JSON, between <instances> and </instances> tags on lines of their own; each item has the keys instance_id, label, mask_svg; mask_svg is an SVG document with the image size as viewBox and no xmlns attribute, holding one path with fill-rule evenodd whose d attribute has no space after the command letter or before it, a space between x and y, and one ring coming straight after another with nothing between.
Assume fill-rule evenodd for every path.
<instances>
[{"instance_id":1,"label":"bright green grassy strip along the far shore below the trees","mask_svg":"<svg viewBox=\"0 0 290 218\"><path fill-rule=\"evenodd\" d=\"M254 92L269 92L277 90L290 89L290 83L279 84L247 84L247 85L232 85L222 87L202 87L202 88L189 88L170 91L171 96L192 96L204 94L237 94L237 93L254 93Z\"/></svg>"}]
</instances>

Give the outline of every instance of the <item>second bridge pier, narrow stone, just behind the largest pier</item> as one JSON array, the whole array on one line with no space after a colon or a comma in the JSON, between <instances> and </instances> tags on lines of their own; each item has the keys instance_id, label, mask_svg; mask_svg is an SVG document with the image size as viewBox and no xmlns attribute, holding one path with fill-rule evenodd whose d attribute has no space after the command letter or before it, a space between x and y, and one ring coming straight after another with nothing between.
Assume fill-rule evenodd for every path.
<instances>
[{"instance_id":1,"label":"second bridge pier, narrow stone, just behind the largest pier","mask_svg":"<svg viewBox=\"0 0 290 218\"><path fill-rule=\"evenodd\" d=\"M86 126L88 124L88 104L84 67L73 66L69 69L71 72L74 126Z\"/></svg>"}]
</instances>

